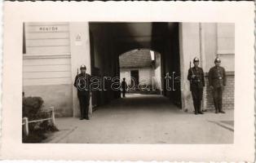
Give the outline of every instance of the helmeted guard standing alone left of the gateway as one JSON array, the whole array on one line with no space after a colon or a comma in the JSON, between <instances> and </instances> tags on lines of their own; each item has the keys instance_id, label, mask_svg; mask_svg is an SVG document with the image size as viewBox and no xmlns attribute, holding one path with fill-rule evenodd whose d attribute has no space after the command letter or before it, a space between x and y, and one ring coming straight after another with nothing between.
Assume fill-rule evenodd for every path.
<instances>
[{"instance_id":1,"label":"helmeted guard standing alone left of the gateway","mask_svg":"<svg viewBox=\"0 0 256 163\"><path fill-rule=\"evenodd\" d=\"M90 104L90 75L86 73L86 66L81 65L81 73L78 74L74 81L73 86L77 87L77 96L80 104L81 120L89 120L89 104Z\"/></svg>"}]
</instances>

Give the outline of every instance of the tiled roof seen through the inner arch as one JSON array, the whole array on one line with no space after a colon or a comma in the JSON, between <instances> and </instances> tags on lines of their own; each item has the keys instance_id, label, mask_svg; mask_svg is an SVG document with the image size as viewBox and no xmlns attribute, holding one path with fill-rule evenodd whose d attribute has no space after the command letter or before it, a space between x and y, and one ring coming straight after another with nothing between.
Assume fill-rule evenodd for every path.
<instances>
[{"instance_id":1,"label":"tiled roof seen through the inner arch","mask_svg":"<svg viewBox=\"0 0 256 163\"><path fill-rule=\"evenodd\" d=\"M120 68L148 67L152 65L150 51L147 49L128 51L119 56Z\"/></svg>"}]
</instances>

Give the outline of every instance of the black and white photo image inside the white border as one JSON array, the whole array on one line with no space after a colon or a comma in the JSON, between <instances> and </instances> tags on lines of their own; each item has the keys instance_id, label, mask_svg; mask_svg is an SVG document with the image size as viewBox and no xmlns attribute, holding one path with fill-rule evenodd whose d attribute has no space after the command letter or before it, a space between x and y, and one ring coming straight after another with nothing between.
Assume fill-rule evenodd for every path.
<instances>
[{"instance_id":1,"label":"black and white photo image inside the white border","mask_svg":"<svg viewBox=\"0 0 256 163\"><path fill-rule=\"evenodd\" d=\"M235 28L24 22L23 143L233 143Z\"/></svg>"}]
</instances>

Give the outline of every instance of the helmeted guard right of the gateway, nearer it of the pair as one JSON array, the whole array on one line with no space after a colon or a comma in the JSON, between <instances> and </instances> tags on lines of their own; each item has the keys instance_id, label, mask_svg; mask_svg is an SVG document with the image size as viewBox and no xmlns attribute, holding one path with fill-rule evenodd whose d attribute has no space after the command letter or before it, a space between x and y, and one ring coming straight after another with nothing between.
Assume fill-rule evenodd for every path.
<instances>
[{"instance_id":1,"label":"helmeted guard right of the gateway, nearer it of the pair","mask_svg":"<svg viewBox=\"0 0 256 163\"><path fill-rule=\"evenodd\" d=\"M203 114L203 112L201 112L201 100L205 86L204 71L202 68L198 67L198 58L193 59L193 64L194 67L188 69L188 80L190 81L190 90L192 93L195 114Z\"/></svg>"}]
</instances>

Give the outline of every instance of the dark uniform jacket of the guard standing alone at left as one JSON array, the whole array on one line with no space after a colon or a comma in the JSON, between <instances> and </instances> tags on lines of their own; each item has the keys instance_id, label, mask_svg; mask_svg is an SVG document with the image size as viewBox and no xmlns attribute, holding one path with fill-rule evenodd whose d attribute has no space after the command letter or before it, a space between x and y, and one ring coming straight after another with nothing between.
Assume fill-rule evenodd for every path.
<instances>
[{"instance_id":1,"label":"dark uniform jacket of the guard standing alone at left","mask_svg":"<svg viewBox=\"0 0 256 163\"><path fill-rule=\"evenodd\" d=\"M90 75L88 73L79 73L73 83L77 87L77 95L90 94Z\"/></svg>"}]
</instances>

